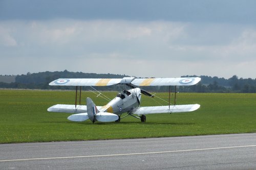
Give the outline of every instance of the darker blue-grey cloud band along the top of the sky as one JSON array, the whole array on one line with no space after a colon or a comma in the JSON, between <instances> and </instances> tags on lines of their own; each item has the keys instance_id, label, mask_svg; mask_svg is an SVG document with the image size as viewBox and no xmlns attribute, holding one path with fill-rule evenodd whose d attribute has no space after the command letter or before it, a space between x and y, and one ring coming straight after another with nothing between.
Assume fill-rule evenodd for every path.
<instances>
[{"instance_id":1,"label":"darker blue-grey cloud band along the top of the sky","mask_svg":"<svg viewBox=\"0 0 256 170\"><path fill-rule=\"evenodd\" d=\"M14 1L0 2L0 19L125 19L254 24L253 0Z\"/></svg>"}]
</instances>

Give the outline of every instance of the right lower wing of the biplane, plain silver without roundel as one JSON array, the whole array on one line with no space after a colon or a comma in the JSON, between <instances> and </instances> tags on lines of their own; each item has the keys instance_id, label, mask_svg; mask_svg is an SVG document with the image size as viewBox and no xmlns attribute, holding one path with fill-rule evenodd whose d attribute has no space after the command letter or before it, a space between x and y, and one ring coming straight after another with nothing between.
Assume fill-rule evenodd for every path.
<instances>
[{"instance_id":1,"label":"right lower wing of the biplane, plain silver without roundel","mask_svg":"<svg viewBox=\"0 0 256 170\"><path fill-rule=\"evenodd\" d=\"M180 112L191 112L200 108L199 104L194 105L170 105L170 106L148 106L148 107L137 107L132 110L132 114L153 114L153 113L180 113Z\"/></svg>"}]
</instances>

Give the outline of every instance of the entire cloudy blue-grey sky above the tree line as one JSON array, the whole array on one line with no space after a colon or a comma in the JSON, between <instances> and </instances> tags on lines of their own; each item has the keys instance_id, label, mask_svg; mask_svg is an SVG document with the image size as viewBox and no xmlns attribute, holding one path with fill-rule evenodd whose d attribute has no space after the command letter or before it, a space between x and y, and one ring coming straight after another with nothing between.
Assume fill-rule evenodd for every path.
<instances>
[{"instance_id":1,"label":"entire cloudy blue-grey sky above the tree line","mask_svg":"<svg viewBox=\"0 0 256 170\"><path fill-rule=\"evenodd\" d=\"M256 1L0 0L0 75L256 78Z\"/></svg>"}]
</instances>

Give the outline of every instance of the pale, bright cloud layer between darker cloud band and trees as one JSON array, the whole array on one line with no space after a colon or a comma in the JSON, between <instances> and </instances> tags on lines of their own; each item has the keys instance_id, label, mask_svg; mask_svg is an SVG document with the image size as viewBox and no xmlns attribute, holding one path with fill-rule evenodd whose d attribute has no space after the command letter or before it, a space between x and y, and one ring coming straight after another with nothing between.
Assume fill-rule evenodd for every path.
<instances>
[{"instance_id":1,"label":"pale, bright cloud layer between darker cloud band and trees","mask_svg":"<svg viewBox=\"0 0 256 170\"><path fill-rule=\"evenodd\" d=\"M141 77L254 78L256 64L256 28L233 23L7 20L0 21L0 39L3 75L68 69Z\"/></svg>"}]
</instances>

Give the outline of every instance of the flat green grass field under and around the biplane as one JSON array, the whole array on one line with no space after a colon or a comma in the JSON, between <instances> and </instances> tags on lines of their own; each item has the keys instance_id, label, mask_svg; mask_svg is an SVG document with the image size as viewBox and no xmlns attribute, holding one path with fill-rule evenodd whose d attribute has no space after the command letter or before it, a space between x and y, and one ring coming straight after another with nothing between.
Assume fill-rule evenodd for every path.
<instances>
[{"instance_id":1,"label":"flat green grass field under and around the biplane","mask_svg":"<svg viewBox=\"0 0 256 170\"><path fill-rule=\"evenodd\" d=\"M103 92L114 98L116 92ZM82 92L96 105L106 104ZM168 93L158 93L167 100ZM67 113L49 113L55 104L74 104L74 91L0 90L0 143L67 141L256 132L255 93L178 93L177 104L201 105L190 113L147 115L146 123L128 116L120 123L70 122ZM142 106L158 105L142 96Z\"/></svg>"}]
</instances>

